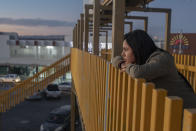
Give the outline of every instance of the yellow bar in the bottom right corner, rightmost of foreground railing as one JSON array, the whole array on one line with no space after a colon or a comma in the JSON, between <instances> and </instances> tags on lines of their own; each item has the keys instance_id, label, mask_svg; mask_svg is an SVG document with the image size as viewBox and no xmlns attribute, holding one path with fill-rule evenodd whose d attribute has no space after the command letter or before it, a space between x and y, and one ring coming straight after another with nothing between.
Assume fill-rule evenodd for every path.
<instances>
[{"instance_id":1,"label":"yellow bar in the bottom right corner, rightmost of foreground railing","mask_svg":"<svg viewBox=\"0 0 196 131\"><path fill-rule=\"evenodd\" d=\"M185 109L183 131L196 131L196 109Z\"/></svg>"}]
</instances>

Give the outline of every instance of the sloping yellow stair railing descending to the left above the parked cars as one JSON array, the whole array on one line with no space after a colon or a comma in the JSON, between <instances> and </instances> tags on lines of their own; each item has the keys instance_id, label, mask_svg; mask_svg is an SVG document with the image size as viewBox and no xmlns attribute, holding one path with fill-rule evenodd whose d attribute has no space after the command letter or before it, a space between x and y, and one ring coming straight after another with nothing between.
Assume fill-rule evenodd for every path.
<instances>
[{"instance_id":1,"label":"sloping yellow stair railing descending to the left above the parked cars","mask_svg":"<svg viewBox=\"0 0 196 131\"><path fill-rule=\"evenodd\" d=\"M70 70L70 55L46 67L41 72L24 80L13 88L0 92L0 112L6 112L16 104L33 95L38 90L43 90L49 83L64 75Z\"/></svg>"}]
</instances>

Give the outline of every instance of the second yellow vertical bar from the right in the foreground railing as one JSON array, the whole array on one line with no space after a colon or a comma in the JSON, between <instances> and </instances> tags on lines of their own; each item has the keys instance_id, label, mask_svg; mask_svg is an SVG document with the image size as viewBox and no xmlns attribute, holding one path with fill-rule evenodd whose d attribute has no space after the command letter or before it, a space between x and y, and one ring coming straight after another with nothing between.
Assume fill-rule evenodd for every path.
<instances>
[{"instance_id":1,"label":"second yellow vertical bar from the right in the foreground railing","mask_svg":"<svg viewBox=\"0 0 196 131\"><path fill-rule=\"evenodd\" d=\"M180 97L166 97L163 131L181 131L182 106Z\"/></svg>"}]
</instances>

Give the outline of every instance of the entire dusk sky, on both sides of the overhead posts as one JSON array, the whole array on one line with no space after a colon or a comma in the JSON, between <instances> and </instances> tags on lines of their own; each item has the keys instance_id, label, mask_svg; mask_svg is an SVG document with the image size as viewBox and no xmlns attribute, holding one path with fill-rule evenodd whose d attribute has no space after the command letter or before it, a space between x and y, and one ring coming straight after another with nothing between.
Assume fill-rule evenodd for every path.
<instances>
[{"instance_id":1,"label":"entire dusk sky, on both sides of the overhead posts","mask_svg":"<svg viewBox=\"0 0 196 131\"><path fill-rule=\"evenodd\" d=\"M195 0L154 0L149 7L171 8L171 32L196 32ZM20 35L67 35L80 13L83 0L0 0L0 31L18 32ZM149 16L149 32L163 36L165 15L157 13L131 13ZM134 28L143 28L134 21Z\"/></svg>"}]
</instances>

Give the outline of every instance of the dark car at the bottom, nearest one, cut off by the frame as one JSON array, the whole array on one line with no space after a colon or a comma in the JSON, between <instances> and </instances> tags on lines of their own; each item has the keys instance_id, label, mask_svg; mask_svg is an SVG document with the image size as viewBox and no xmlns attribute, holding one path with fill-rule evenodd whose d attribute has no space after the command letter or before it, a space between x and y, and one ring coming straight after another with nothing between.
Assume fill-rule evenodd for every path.
<instances>
[{"instance_id":1,"label":"dark car at the bottom, nearest one, cut off by the frame","mask_svg":"<svg viewBox=\"0 0 196 131\"><path fill-rule=\"evenodd\" d=\"M70 129L71 106L64 105L50 112L40 131L68 131Z\"/></svg>"}]
</instances>

